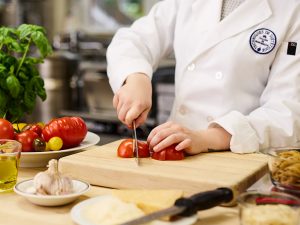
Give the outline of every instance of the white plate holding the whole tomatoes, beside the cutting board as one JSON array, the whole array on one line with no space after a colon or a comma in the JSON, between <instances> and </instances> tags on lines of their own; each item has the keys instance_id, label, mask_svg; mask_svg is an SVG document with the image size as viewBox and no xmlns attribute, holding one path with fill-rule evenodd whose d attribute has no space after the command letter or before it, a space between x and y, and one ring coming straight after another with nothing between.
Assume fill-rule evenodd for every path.
<instances>
[{"instance_id":1,"label":"white plate holding the whole tomatoes, beside the cutting board","mask_svg":"<svg viewBox=\"0 0 300 225\"><path fill-rule=\"evenodd\" d=\"M88 132L80 145L74 148L47 152L22 152L20 167L45 167L50 159L59 159L83 151L87 147L96 145L99 141L100 137L97 134Z\"/></svg>"}]
</instances>

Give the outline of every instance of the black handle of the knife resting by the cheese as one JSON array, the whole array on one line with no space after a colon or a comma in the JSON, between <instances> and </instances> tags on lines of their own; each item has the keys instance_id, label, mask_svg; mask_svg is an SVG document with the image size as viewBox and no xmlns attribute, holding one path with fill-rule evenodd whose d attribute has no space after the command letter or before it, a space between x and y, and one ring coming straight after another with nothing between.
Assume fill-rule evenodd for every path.
<instances>
[{"instance_id":1,"label":"black handle of the knife resting by the cheese","mask_svg":"<svg viewBox=\"0 0 300 225\"><path fill-rule=\"evenodd\" d=\"M178 207L185 207L185 210L178 216L191 216L199 210L210 209L221 203L230 202L233 199L233 192L229 188L218 188L213 191L201 192L189 198L179 198L175 201Z\"/></svg>"}]
</instances>

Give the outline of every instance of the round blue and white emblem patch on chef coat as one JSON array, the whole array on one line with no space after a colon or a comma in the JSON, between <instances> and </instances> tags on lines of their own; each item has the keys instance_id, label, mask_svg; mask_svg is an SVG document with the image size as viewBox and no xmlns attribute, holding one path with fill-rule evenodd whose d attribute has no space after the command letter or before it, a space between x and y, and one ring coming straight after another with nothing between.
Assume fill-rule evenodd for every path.
<instances>
[{"instance_id":1,"label":"round blue and white emblem patch on chef coat","mask_svg":"<svg viewBox=\"0 0 300 225\"><path fill-rule=\"evenodd\" d=\"M258 54L268 54L276 46L276 35L273 31L260 28L254 31L250 36L250 46Z\"/></svg>"}]
</instances>

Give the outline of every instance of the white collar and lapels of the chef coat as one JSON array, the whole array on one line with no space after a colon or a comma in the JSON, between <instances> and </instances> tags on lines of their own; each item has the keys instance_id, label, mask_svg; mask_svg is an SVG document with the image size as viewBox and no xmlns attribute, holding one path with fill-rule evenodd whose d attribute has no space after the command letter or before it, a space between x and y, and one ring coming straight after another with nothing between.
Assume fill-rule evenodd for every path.
<instances>
[{"instance_id":1,"label":"white collar and lapels of the chef coat","mask_svg":"<svg viewBox=\"0 0 300 225\"><path fill-rule=\"evenodd\" d=\"M208 34L205 40L195 47L191 57L186 61L186 66L221 41L262 23L272 15L268 0L247 0L222 21L220 21L221 8L222 0L194 0L192 13L194 16L197 13L200 17L197 17L197 21L206 24Z\"/></svg>"}]
</instances>

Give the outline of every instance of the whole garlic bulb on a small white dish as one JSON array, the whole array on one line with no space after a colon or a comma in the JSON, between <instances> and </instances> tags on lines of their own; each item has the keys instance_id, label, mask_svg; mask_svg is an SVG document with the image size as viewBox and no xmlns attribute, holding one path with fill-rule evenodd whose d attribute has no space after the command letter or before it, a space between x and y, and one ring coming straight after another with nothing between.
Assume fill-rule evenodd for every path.
<instances>
[{"instance_id":1,"label":"whole garlic bulb on a small white dish","mask_svg":"<svg viewBox=\"0 0 300 225\"><path fill-rule=\"evenodd\" d=\"M72 180L59 173L56 159L51 159L48 170L35 175L33 182L36 194L63 195L73 192Z\"/></svg>"}]
</instances>

